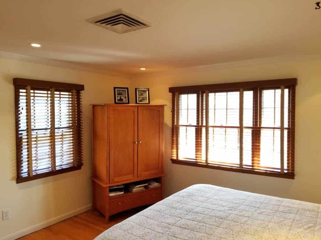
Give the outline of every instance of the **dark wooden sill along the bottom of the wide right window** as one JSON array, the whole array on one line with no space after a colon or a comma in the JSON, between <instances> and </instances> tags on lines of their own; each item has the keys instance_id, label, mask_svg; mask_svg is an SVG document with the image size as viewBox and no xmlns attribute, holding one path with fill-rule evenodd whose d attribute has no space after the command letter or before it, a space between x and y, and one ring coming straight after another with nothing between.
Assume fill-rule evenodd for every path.
<instances>
[{"instance_id":1,"label":"dark wooden sill along the bottom of the wide right window","mask_svg":"<svg viewBox=\"0 0 321 240\"><path fill-rule=\"evenodd\" d=\"M263 175L263 176L269 176L269 177L294 179L294 175L292 174L266 172L261 170L244 169L244 168L237 168L237 167L230 167L230 166L219 166L215 164L205 164L205 163L186 161L186 160L171 159L171 161L173 164L187 165L187 166L193 166L193 167L203 167L203 168L211 168L211 169L224 170L224 171L230 171L230 172L242 172L242 173Z\"/></svg>"}]
</instances>

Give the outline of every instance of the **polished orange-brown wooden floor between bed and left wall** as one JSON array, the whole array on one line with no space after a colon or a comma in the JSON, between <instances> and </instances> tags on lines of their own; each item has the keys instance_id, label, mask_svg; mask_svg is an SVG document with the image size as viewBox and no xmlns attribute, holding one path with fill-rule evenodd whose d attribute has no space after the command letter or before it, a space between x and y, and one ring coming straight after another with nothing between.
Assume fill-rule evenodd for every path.
<instances>
[{"instance_id":1,"label":"polished orange-brown wooden floor between bed and left wall","mask_svg":"<svg viewBox=\"0 0 321 240\"><path fill-rule=\"evenodd\" d=\"M21 237L19 240L92 240L106 229L145 208L146 206L115 214L109 218L108 223L105 223L104 216L99 212L89 210Z\"/></svg>"}]
</instances>

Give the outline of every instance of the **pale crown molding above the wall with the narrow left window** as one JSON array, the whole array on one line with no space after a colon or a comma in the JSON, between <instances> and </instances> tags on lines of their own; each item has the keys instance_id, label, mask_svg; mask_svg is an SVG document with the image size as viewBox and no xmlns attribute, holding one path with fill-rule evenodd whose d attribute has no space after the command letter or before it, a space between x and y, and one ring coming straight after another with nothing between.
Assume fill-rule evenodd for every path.
<instances>
[{"instance_id":1,"label":"pale crown molding above the wall with the narrow left window","mask_svg":"<svg viewBox=\"0 0 321 240\"><path fill-rule=\"evenodd\" d=\"M36 63L46 66L52 66L57 68L68 68L72 70L77 71L84 71L84 72L91 72L91 73L97 73L97 74L103 74L103 75L109 75L109 76L118 76L118 77L128 77L128 74L110 71L106 68L101 67L93 67L88 66L87 64L82 63L75 63L75 62L68 62L68 61L62 61L62 60L52 60L52 59L46 59L46 58L35 58L30 57L26 55L20 55L16 53L10 53L10 52L1 52L0 51L0 58L3 59L9 59L9 60L20 60L30 63Z\"/></svg>"}]
</instances>

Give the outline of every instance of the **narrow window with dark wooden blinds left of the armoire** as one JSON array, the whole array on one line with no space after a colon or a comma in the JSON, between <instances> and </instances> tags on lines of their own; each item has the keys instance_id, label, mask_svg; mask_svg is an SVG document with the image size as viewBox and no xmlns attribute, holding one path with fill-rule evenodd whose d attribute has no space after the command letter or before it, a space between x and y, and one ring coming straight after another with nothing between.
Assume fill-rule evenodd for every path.
<instances>
[{"instance_id":1,"label":"narrow window with dark wooden blinds left of the armoire","mask_svg":"<svg viewBox=\"0 0 321 240\"><path fill-rule=\"evenodd\" d=\"M14 78L17 183L81 169L83 85Z\"/></svg>"}]
</instances>

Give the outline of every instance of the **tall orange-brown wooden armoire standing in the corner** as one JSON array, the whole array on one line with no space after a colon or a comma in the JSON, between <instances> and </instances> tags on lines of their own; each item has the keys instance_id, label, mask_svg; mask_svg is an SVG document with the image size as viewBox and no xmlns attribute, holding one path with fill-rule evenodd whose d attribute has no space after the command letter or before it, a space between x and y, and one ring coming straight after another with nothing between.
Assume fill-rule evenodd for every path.
<instances>
[{"instance_id":1,"label":"tall orange-brown wooden armoire standing in the corner","mask_svg":"<svg viewBox=\"0 0 321 240\"><path fill-rule=\"evenodd\" d=\"M92 105L93 208L109 216L162 199L164 105ZM109 196L109 187L155 179L160 188Z\"/></svg>"}]
</instances>

